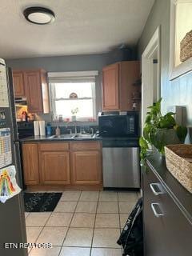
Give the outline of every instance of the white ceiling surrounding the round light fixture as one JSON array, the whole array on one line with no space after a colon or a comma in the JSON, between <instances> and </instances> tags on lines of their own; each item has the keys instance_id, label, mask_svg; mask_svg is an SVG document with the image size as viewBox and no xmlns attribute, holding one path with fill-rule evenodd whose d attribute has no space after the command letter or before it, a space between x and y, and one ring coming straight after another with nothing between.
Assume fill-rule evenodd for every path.
<instances>
[{"instance_id":1,"label":"white ceiling surrounding the round light fixture","mask_svg":"<svg viewBox=\"0 0 192 256\"><path fill-rule=\"evenodd\" d=\"M138 42L154 0L1 0L0 57L104 53ZM55 22L26 22L22 10L48 7Z\"/></svg>"}]
</instances>

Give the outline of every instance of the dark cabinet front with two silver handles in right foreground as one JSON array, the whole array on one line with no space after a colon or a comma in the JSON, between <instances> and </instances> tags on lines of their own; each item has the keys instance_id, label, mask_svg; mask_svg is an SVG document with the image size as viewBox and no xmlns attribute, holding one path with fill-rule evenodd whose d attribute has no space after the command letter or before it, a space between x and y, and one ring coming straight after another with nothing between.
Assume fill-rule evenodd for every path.
<instances>
[{"instance_id":1,"label":"dark cabinet front with two silver handles in right foreground","mask_svg":"<svg viewBox=\"0 0 192 256\"><path fill-rule=\"evenodd\" d=\"M153 183L161 186L162 194ZM143 194L145 255L190 255L191 223L152 170L143 174Z\"/></svg>"}]
</instances>

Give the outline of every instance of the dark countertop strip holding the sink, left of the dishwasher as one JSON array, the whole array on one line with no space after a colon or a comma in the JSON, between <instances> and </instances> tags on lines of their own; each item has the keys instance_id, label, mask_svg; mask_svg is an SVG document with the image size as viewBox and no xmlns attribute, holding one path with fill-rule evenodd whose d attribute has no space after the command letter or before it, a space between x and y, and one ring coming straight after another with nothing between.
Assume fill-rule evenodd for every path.
<instances>
[{"instance_id":1,"label":"dark countertop strip holding the sink, left of the dishwasher","mask_svg":"<svg viewBox=\"0 0 192 256\"><path fill-rule=\"evenodd\" d=\"M101 141L102 138L98 136L93 137L71 137L71 138L53 138L53 136L30 136L27 138L22 138L20 142L74 142L74 141Z\"/></svg>"}]
</instances>

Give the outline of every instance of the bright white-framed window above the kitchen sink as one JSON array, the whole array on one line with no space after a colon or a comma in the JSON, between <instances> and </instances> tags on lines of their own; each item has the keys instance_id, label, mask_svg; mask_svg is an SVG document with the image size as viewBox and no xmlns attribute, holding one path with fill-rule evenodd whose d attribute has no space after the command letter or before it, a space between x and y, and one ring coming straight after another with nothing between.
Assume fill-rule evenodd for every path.
<instances>
[{"instance_id":1,"label":"bright white-framed window above the kitchen sink","mask_svg":"<svg viewBox=\"0 0 192 256\"><path fill-rule=\"evenodd\" d=\"M95 120L95 77L85 76L85 72L79 76L79 73L82 72L67 72L58 77L53 74L50 77L49 74L54 119L62 117L71 120L75 115L78 121Z\"/></svg>"}]
</instances>

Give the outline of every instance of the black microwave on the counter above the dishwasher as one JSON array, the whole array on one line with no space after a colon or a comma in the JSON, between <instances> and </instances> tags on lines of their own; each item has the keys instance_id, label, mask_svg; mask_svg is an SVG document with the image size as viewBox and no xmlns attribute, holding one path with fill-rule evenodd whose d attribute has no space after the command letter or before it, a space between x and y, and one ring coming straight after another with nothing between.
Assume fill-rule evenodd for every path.
<instances>
[{"instance_id":1,"label":"black microwave on the counter above the dishwasher","mask_svg":"<svg viewBox=\"0 0 192 256\"><path fill-rule=\"evenodd\" d=\"M98 130L102 137L138 137L139 114L127 111L126 114L105 114L98 116Z\"/></svg>"}]
</instances>

